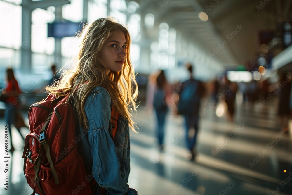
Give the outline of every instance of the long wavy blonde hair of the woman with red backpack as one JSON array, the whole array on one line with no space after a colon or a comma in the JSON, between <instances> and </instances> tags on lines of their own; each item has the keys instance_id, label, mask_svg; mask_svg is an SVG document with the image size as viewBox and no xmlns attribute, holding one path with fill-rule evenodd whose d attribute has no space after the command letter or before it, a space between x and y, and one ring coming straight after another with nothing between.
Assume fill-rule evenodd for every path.
<instances>
[{"instance_id":1,"label":"long wavy blonde hair of the woman with red backpack","mask_svg":"<svg viewBox=\"0 0 292 195\"><path fill-rule=\"evenodd\" d=\"M107 75L107 66L98 56L111 33L119 30L125 34L128 43L126 59L121 72L111 70ZM135 132L131 116L136 111L138 87L130 62L131 39L128 30L113 18L107 17L95 20L84 27L79 36L83 39L79 46L76 65L64 70L59 81L51 87L46 87L48 95L54 94L56 97L69 95L68 100L74 99L80 123L84 129L88 129L84 103L94 87L102 86L109 92L119 114L128 119L131 129Z\"/></svg>"}]
</instances>

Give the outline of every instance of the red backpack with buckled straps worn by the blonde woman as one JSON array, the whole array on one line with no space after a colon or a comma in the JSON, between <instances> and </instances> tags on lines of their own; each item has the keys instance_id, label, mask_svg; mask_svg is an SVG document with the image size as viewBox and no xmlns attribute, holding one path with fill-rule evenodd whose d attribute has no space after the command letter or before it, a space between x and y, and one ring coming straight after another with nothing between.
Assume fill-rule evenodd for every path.
<instances>
[{"instance_id":1,"label":"red backpack with buckled straps worn by the blonde woman","mask_svg":"<svg viewBox=\"0 0 292 195\"><path fill-rule=\"evenodd\" d=\"M23 151L23 171L33 194L80 194L95 192L96 181L84 168L77 151L74 111L65 103L68 96L54 95L29 108L29 130ZM118 112L111 113L113 135L117 129Z\"/></svg>"}]
</instances>

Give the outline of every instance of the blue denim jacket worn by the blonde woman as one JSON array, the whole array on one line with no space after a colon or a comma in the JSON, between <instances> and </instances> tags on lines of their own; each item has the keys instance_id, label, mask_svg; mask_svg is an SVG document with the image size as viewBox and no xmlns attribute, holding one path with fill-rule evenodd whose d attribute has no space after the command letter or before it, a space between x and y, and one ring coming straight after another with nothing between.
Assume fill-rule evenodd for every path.
<instances>
[{"instance_id":1,"label":"blue denim jacket worn by the blonde woman","mask_svg":"<svg viewBox=\"0 0 292 195\"><path fill-rule=\"evenodd\" d=\"M81 139L79 153L84 159L84 166L92 172L97 181L95 195L99 188L106 189L106 195L136 195L135 189L129 188L130 140L128 120L119 115L118 127L114 139L111 137L110 96L106 89L97 86L88 94L85 112L88 120L88 132ZM91 170L90 170L91 167Z\"/></svg>"}]
</instances>

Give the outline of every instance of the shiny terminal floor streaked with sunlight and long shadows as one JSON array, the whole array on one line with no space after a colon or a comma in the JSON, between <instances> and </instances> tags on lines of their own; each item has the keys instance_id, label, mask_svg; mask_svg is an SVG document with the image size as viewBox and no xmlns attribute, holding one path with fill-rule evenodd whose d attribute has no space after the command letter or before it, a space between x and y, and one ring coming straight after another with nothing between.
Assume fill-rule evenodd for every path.
<instances>
[{"instance_id":1,"label":"shiny terminal floor streaked with sunlight and long shadows","mask_svg":"<svg viewBox=\"0 0 292 195\"><path fill-rule=\"evenodd\" d=\"M202 110L207 103L202 104ZM167 115L166 146L159 152L155 115L140 106L134 119L140 127L139 133L131 133L128 184L139 195L292 194L292 141L290 136L279 132L276 108L273 102L263 109L258 104L253 108L238 105L233 123L217 117L215 109L211 109L201 118L199 154L195 161L188 161L183 118ZM0 127L4 128L3 119ZM27 129L21 131L23 135L28 133ZM0 155L0 180L3 181L0 194L29 194L32 190L23 174L22 140L15 129L12 133L13 143L19 144L8 155L9 191L4 190L4 154ZM1 137L3 148L4 135Z\"/></svg>"}]
</instances>

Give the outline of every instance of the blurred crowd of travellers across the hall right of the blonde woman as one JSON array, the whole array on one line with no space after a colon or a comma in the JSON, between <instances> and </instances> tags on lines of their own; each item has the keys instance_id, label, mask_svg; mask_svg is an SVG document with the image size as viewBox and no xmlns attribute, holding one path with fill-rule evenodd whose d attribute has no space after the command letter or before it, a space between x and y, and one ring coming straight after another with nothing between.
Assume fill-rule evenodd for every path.
<instances>
[{"instance_id":1,"label":"blurred crowd of travellers across the hall right of the blonde woman","mask_svg":"<svg viewBox=\"0 0 292 195\"><path fill-rule=\"evenodd\" d=\"M196 157L196 141L199 132L199 120L210 109L214 109L218 117L225 116L226 121L234 122L237 102L248 106L251 110L263 108L269 102L278 105L279 132L289 134L289 118L291 113L291 73L278 73L278 82L253 79L250 82L235 82L229 80L226 72L209 82L202 82L194 77L193 66L186 65L189 76L185 80L170 83L165 70L157 70L148 77L146 106L153 109L157 118L156 134L160 151L164 149L164 132L166 114L182 115L184 118L185 146L190 155ZM207 102L204 107L202 100ZM223 108L217 112L221 105ZM272 104L275 105L275 104ZM221 111L221 112L220 112Z\"/></svg>"}]
</instances>

